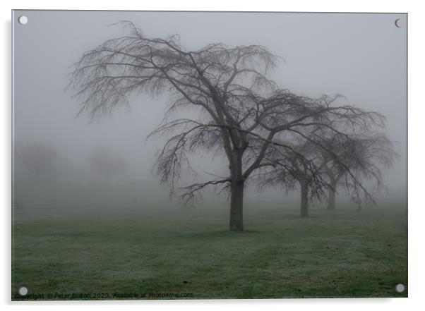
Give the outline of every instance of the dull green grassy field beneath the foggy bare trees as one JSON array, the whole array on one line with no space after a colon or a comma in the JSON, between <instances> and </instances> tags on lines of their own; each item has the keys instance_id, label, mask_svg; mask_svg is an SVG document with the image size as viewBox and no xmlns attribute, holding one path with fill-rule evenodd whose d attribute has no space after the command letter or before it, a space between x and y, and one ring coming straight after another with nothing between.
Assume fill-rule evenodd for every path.
<instances>
[{"instance_id":1,"label":"dull green grassy field beneath the foggy bare trees","mask_svg":"<svg viewBox=\"0 0 425 311\"><path fill-rule=\"evenodd\" d=\"M407 297L401 210L247 206L239 233L225 208L17 211L12 299Z\"/></svg>"}]
</instances>

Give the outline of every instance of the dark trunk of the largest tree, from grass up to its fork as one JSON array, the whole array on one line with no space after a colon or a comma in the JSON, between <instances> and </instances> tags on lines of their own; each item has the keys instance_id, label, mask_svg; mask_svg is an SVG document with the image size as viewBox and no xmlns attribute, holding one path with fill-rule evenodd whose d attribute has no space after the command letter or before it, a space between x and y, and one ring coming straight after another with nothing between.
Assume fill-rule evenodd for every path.
<instances>
[{"instance_id":1,"label":"dark trunk of the largest tree, from grass up to its fork","mask_svg":"<svg viewBox=\"0 0 425 311\"><path fill-rule=\"evenodd\" d=\"M230 231L244 231L244 174L242 173L242 154L235 152L230 164Z\"/></svg>"}]
</instances>

